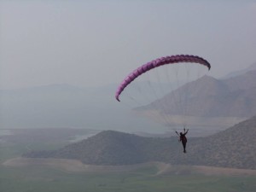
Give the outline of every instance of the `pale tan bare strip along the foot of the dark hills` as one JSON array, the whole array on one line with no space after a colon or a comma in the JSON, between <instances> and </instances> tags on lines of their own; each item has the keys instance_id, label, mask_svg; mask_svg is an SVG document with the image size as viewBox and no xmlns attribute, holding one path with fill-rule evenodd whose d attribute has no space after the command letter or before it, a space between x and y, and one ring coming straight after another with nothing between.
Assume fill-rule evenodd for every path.
<instances>
[{"instance_id":1,"label":"pale tan bare strip along the foot of the dark hills","mask_svg":"<svg viewBox=\"0 0 256 192\"><path fill-rule=\"evenodd\" d=\"M172 166L160 162L148 162L132 166L93 166L84 165L79 160L44 159L44 158L14 158L3 162L3 166L49 166L63 172L131 172L145 166L156 166L156 175L165 174L203 174L207 176L256 176L256 170L234 169L214 166Z\"/></svg>"}]
</instances>

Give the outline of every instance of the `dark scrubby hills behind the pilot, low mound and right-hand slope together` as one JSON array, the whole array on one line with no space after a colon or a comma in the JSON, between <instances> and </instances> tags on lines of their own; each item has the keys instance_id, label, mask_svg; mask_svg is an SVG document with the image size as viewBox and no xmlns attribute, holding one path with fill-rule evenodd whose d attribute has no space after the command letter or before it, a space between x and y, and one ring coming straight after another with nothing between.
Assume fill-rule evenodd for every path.
<instances>
[{"instance_id":1,"label":"dark scrubby hills behind the pilot, low mound and right-hand slope together","mask_svg":"<svg viewBox=\"0 0 256 192\"><path fill-rule=\"evenodd\" d=\"M256 169L256 117L210 137L189 138L188 154L177 137L154 138L102 131L55 151L32 151L30 158L80 160L90 165L132 165L148 161Z\"/></svg>"}]
</instances>

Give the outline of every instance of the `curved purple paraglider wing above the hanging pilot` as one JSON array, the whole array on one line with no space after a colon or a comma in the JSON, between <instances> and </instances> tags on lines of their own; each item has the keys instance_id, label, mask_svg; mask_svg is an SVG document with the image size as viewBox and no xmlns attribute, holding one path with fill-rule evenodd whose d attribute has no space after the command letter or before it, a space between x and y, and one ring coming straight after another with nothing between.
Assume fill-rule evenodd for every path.
<instances>
[{"instance_id":1,"label":"curved purple paraglider wing above the hanging pilot","mask_svg":"<svg viewBox=\"0 0 256 192\"><path fill-rule=\"evenodd\" d=\"M128 84L131 84L131 81L133 81L134 79L137 79L138 76L142 75L143 73L148 72L149 70L151 70L155 67L160 67L160 66L163 66L166 64L174 64L174 63L178 63L178 62L194 62L194 63L198 63L198 64L208 67L209 70L211 68L211 65L208 61L206 61L205 59L203 59L199 56L195 56L195 55L172 55L172 56L158 58L154 61L150 61L150 62L144 64L141 67L137 67L137 69L135 69L133 72L131 72L119 84L119 87L115 93L116 100L120 102L119 96L122 93L122 91L125 90L125 87Z\"/></svg>"}]
</instances>

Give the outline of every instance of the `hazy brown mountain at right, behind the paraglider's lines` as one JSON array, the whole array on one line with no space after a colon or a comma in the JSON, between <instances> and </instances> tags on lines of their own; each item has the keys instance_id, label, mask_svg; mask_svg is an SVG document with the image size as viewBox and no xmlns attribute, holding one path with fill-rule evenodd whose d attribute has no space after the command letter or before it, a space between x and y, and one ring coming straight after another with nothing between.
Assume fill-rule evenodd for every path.
<instances>
[{"instance_id":1,"label":"hazy brown mountain at right, behind the paraglider's lines","mask_svg":"<svg viewBox=\"0 0 256 192\"><path fill-rule=\"evenodd\" d=\"M216 119L212 125L222 125L224 119L232 125L256 114L256 70L249 70L229 79L214 79L204 76L166 96L139 108L135 112L151 119L188 117L189 125L200 125L207 119ZM154 117L151 115L154 112ZM172 118L174 117L174 118ZM176 118L176 119L175 119Z\"/></svg>"}]
</instances>

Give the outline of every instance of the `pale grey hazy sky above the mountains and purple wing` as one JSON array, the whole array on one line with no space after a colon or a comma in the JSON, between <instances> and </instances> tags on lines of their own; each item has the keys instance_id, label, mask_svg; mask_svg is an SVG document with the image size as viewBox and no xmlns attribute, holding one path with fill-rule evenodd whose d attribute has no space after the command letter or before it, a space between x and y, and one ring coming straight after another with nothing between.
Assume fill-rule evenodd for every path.
<instances>
[{"instance_id":1,"label":"pale grey hazy sky above the mountains and purple wing","mask_svg":"<svg viewBox=\"0 0 256 192\"><path fill-rule=\"evenodd\" d=\"M119 83L166 55L222 77L256 61L256 1L0 0L0 89Z\"/></svg>"}]
</instances>

